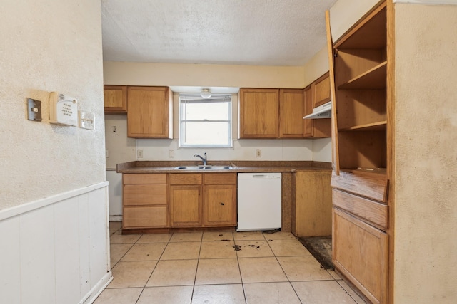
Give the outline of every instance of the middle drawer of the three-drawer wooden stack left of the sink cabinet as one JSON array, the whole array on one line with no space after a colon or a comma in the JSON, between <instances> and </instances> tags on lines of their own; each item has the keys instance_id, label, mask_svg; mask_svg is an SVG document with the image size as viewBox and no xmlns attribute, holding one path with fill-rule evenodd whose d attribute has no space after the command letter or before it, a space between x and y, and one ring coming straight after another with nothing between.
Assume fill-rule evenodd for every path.
<instances>
[{"instance_id":1,"label":"middle drawer of the three-drawer wooden stack left of the sink cabinet","mask_svg":"<svg viewBox=\"0 0 457 304\"><path fill-rule=\"evenodd\" d=\"M166 205L166 184L127 184L124 186L124 206Z\"/></svg>"}]
</instances>

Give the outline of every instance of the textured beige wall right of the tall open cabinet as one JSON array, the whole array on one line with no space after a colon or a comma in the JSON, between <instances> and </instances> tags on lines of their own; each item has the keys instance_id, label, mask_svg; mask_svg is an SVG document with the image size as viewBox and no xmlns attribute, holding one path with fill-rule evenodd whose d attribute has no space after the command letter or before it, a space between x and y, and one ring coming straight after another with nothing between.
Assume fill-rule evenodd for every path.
<instances>
[{"instance_id":1,"label":"textured beige wall right of the tall open cabinet","mask_svg":"<svg viewBox=\"0 0 457 304\"><path fill-rule=\"evenodd\" d=\"M457 6L395 8L395 303L456 303Z\"/></svg>"}]
</instances>

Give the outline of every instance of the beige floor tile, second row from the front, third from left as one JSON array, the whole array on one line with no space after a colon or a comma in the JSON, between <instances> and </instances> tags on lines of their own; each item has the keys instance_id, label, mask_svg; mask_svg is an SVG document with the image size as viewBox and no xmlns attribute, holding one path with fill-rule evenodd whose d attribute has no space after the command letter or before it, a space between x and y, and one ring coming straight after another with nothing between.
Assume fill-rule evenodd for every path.
<instances>
[{"instance_id":1,"label":"beige floor tile, second row from the front, third from left","mask_svg":"<svg viewBox=\"0 0 457 304\"><path fill-rule=\"evenodd\" d=\"M199 260L195 285L241 283L236 258L210 258Z\"/></svg>"}]
</instances>

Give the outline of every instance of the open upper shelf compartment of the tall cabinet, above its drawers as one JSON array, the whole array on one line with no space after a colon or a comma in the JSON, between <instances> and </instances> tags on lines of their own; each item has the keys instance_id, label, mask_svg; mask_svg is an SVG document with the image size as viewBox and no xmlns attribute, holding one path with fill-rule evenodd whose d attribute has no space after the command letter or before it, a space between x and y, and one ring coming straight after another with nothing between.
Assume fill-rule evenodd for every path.
<instances>
[{"instance_id":1,"label":"open upper shelf compartment of the tall cabinet, above its drawers","mask_svg":"<svg viewBox=\"0 0 457 304\"><path fill-rule=\"evenodd\" d=\"M384 3L333 45L337 174L387 167L386 41Z\"/></svg>"}]
</instances>

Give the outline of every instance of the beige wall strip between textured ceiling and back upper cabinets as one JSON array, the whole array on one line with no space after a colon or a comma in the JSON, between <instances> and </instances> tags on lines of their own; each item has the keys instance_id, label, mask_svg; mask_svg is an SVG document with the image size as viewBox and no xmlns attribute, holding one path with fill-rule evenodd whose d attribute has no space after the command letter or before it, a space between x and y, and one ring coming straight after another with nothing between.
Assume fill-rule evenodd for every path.
<instances>
[{"instance_id":1,"label":"beige wall strip between textured ceiling and back upper cabinets","mask_svg":"<svg viewBox=\"0 0 457 304\"><path fill-rule=\"evenodd\" d=\"M106 85L303 88L303 67L104 62Z\"/></svg>"}]
</instances>

